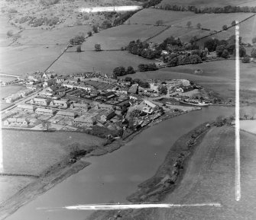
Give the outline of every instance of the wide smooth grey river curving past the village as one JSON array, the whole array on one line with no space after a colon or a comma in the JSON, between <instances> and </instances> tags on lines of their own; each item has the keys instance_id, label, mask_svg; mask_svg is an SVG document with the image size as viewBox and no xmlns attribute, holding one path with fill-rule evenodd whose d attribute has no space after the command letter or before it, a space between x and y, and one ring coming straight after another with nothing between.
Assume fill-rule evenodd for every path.
<instances>
[{"instance_id":1,"label":"wide smooth grey river curving past the village","mask_svg":"<svg viewBox=\"0 0 256 220\"><path fill-rule=\"evenodd\" d=\"M216 116L230 115L230 107L203 107L152 126L117 151L88 158L92 164L18 209L8 220L85 220L91 212L60 209L77 204L128 202L139 183L154 175L170 146L180 136ZM43 208L43 209L42 209Z\"/></svg>"}]
</instances>

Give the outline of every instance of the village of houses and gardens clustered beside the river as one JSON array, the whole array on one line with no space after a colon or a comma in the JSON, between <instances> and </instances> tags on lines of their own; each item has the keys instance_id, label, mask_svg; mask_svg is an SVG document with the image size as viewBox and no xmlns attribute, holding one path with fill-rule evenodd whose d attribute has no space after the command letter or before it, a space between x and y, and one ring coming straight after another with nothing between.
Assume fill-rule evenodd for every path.
<instances>
[{"instance_id":1,"label":"village of houses and gardens clustered beside the river","mask_svg":"<svg viewBox=\"0 0 256 220\"><path fill-rule=\"evenodd\" d=\"M115 79L102 72L66 76L34 72L12 83L26 88L5 97L12 105L2 111L2 126L10 129L66 130L120 138L166 112L200 109L187 107L182 100L191 100L191 105L209 103L202 96L195 99L201 88L186 79L149 79L149 88L143 88L129 78Z\"/></svg>"}]
</instances>

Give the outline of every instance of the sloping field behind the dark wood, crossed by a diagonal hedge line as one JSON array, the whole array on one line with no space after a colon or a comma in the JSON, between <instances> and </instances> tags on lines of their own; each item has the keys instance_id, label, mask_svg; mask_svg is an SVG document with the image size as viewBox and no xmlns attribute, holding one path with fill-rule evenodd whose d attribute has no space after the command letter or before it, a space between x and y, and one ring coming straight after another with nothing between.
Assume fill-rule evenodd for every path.
<instances>
[{"instance_id":1,"label":"sloping field behind the dark wood, crossed by a diagonal hedge line","mask_svg":"<svg viewBox=\"0 0 256 220\"><path fill-rule=\"evenodd\" d=\"M160 10L161 11L161 10ZM171 11L176 12L176 11ZM180 14L187 12L180 12ZM205 37L209 35L210 31L208 30L197 30L196 24L202 24L203 28L210 30L222 30L224 24L230 26L232 21L238 20L241 21L245 18L251 16L251 13L235 13L235 14L196 14L195 17L183 19L183 21L177 21L175 26L170 27L170 29L164 31L157 37L152 39L153 42L159 43L166 39L167 37L180 37L184 42L188 42L191 37L196 36L198 38ZM164 17L162 18L164 20ZM166 21L166 20L164 20ZM186 27L186 23L191 21L192 26L190 28ZM167 21L166 21L167 22ZM256 31L256 18L253 17L248 21L245 21L240 24L240 36L242 41L245 43L251 43L251 39L255 36ZM228 39L235 34L235 27L232 27L222 33L213 35L212 37L218 38L219 40ZM203 40L206 41L207 39ZM201 40L202 43L202 40Z\"/></svg>"}]
</instances>

